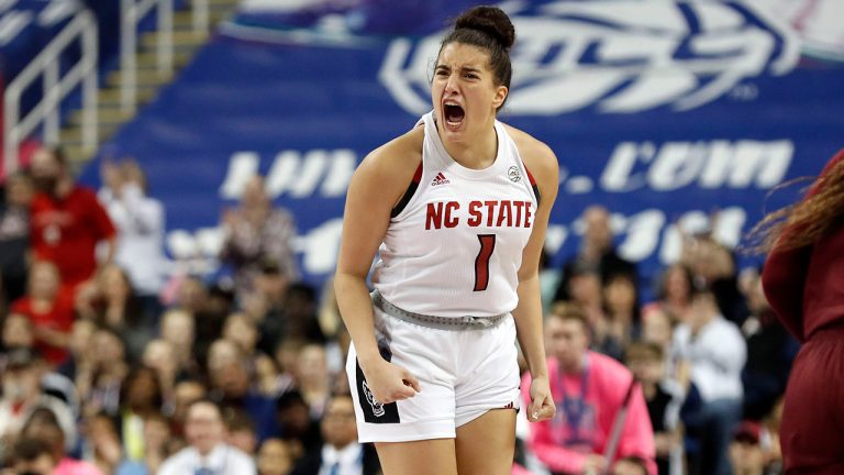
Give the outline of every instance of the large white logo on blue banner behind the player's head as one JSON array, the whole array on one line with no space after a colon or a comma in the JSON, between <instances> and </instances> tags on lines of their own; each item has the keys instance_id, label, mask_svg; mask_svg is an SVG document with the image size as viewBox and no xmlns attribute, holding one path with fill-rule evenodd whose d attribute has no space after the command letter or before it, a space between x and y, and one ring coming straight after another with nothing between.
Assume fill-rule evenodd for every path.
<instances>
[{"instance_id":1,"label":"large white logo on blue banner behind the player's head","mask_svg":"<svg viewBox=\"0 0 844 475\"><path fill-rule=\"evenodd\" d=\"M788 74L800 56L795 33L746 2L513 3L511 115L696 109L748 79ZM431 109L442 33L387 51L379 80L408 112Z\"/></svg>"}]
</instances>

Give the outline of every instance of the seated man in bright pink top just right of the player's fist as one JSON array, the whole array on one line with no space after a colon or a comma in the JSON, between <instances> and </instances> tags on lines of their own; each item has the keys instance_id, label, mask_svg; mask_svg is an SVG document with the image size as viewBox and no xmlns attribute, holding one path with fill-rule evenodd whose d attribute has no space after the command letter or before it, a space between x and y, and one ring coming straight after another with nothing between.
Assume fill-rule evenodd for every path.
<instances>
[{"instance_id":1,"label":"seated man in bright pink top just right of the player's fist","mask_svg":"<svg viewBox=\"0 0 844 475\"><path fill-rule=\"evenodd\" d=\"M601 472L615 460L637 456L656 474L654 439L642 390L633 375L617 361L588 350L589 336L582 310L569 306L545 320L551 390L557 415L531 426L529 449L554 472ZM530 376L522 380L523 398L530 400ZM632 390L631 398L625 396ZM628 404L615 454L606 451L617 417Z\"/></svg>"}]
</instances>

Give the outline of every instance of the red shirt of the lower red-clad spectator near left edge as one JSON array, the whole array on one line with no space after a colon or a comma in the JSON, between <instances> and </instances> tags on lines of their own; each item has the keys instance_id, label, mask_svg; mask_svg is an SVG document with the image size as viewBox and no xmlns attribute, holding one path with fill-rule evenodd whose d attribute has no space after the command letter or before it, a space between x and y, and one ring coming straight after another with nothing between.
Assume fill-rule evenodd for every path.
<instances>
[{"instance_id":1,"label":"red shirt of the lower red-clad spectator near left edge","mask_svg":"<svg viewBox=\"0 0 844 475\"><path fill-rule=\"evenodd\" d=\"M74 327L74 292L67 286L56 295L53 306L47 311L35 310L32 298L23 296L12 303L11 313L26 316L35 329L46 328L70 334ZM57 366L67 358L67 349L51 345L35 336L35 349L52 366Z\"/></svg>"}]
</instances>

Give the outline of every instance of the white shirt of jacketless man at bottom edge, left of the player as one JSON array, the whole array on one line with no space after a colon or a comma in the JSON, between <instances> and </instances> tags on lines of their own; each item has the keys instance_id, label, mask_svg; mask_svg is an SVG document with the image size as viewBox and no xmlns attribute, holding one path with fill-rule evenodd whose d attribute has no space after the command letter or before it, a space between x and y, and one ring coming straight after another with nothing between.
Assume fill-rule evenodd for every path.
<instances>
[{"instance_id":1,"label":"white shirt of jacketless man at bottom edge, left of the player","mask_svg":"<svg viewBox=\"0 0 844 475\"><path fill-rule=\"evenodd\" d=\"M256 475L252 457L240 450L221 443L201 456L192 446L176 452L164 461L158 475Z\"/></svg>"}]
</instances>

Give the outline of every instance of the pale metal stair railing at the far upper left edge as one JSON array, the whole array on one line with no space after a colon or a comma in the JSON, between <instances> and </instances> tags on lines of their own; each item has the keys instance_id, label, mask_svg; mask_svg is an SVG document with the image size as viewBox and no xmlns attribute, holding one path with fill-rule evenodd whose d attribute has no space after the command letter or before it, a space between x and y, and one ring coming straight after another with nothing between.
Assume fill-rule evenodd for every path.
<instances>
[{"instance_id":1,"label":"pale metal stair railing at the far upper left edge","mask_svg":"<svg viewBox=\"0 0 844 475\"><path fill-rule=\"evenodd\" d=\"M59 56L81 42L81 57L66 73L62 71ZM82 146L93 152L97 147L97 20L82 10L67 26L24 68L5 88L3 95L3 168L4 174L18 167L20 144L44 124L44 142L57 145L62 100L80 82L82 85ZM21 118L21 96L38 77L43 80L42 98Z\"/></svg>"}]
</instances>

